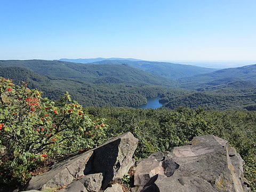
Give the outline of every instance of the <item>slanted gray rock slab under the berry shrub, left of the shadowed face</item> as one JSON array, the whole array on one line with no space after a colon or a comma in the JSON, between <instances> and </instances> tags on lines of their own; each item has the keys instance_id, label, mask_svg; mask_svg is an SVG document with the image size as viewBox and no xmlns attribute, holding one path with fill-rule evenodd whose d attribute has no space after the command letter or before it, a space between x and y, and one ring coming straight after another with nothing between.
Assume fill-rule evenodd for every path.
<instances>
[{"instance_id":1,"label":"slanted gray rock slab under the berry shrub, left of the shadowed face","mask_svg":"<svg viewBox=\"0 0 256 192\"><path fill-rule=\"evenodd\" d=\"M28 182L25 190L68 186L76 177L83 175L85 165L92 154L93 151L90 151L53 165L50 171L33 177Z\"/></svg>"}]
</instances>

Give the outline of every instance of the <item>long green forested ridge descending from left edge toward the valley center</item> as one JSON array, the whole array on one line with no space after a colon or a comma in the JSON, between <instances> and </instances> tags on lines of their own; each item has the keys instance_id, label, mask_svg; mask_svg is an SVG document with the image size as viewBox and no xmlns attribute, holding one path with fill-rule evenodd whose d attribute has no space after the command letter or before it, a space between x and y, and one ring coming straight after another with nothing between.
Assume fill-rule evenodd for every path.
<instances>
[{"instance_id":1,"label":"long green forested ridge descending from left edge toward the valley center","mask_svg":"<svg viewBox=\"0 0 256 192\"><path fill-rule=\"evenodd\" d=\"M23 67L40 75L71 78L86 83L125 83L169 87L175 85L170 79L158 77L127 65L85 65L57 60L5 60L0 61L0 67Z\"/></svg>"}]
</instances>

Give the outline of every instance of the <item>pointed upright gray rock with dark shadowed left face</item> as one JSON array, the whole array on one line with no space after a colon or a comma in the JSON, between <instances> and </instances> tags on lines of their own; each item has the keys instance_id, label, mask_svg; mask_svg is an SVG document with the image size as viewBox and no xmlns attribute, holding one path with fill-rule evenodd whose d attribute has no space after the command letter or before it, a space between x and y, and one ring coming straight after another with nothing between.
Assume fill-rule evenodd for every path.
<instances>
[{"instance_id":1,"label":"pointed upright gray rock with dark shadowed left face","mask_svg":"<svg viewBox=\"0 0 256 192\"><path fill-rule=\"evenodd\" d=\"M106 189L110 181L123 178L134 164L132 156L137 145L138 139L130 132L107 141L93 149L85 173L103 173L101 188Z\"/></svg>"}]
</instances>

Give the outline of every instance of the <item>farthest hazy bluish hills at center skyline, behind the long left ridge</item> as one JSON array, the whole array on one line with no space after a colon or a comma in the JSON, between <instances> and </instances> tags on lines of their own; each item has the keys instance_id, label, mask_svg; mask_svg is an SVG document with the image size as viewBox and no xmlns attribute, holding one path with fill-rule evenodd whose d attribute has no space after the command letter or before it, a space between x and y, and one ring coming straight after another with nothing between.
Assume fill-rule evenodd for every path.
<instances>
[{"instance_id":1,"label":"farthest hazy bluish hills at center skyline, behind the long left ridge","mask_svg":"<svg viewBox=\"0 0 256 192\"><path fill-rule=\"evenodd\" d=\"M97 61L99 59L99 61ZM120 59L120 58L110 58L109 60L101 60L103 58L91 59L92 62L90 64L100 64L100 65L129 65L131 67L141 69L150 74L157 75L159 77L166 77L169 79L178 79L182 77L189 77L197 74L205 74L215 71L216 69L211 68L203 68L191 65L181 65L170 62L156 62L156 61L143 61L143 60L135 60L135 59ZM116 59L116 60L115 60ZM82 63L88 63L86 60L68 60L67 61L77 61Z\"/></svg>"}]
</instances>

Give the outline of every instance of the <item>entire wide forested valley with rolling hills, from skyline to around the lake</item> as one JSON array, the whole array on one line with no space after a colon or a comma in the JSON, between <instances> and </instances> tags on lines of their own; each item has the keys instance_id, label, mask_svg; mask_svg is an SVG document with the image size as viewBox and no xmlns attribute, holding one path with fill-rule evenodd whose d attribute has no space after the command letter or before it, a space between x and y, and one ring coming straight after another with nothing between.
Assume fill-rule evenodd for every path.
<instances>
[{"instance_id":1,"label":"entire wide forested valley with rolling hills, from skyline to around the lake","mask_svg":"<svg viewBox=\"0 0 256 192\"><path fill-rule=\"evenodd\" d=\"M170 109L256 108L256 65L216 70L121 58L68 61L2 60L0 76L28 82L50 99L68 91L83 106L138 107L159 97Z\"/></svg>"}]
</instances>

